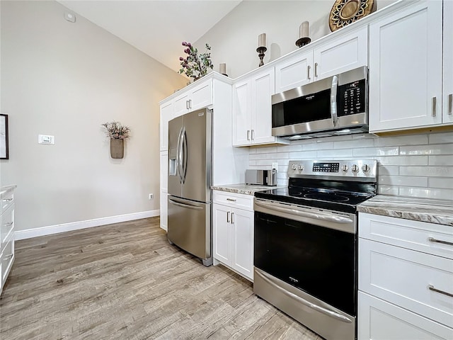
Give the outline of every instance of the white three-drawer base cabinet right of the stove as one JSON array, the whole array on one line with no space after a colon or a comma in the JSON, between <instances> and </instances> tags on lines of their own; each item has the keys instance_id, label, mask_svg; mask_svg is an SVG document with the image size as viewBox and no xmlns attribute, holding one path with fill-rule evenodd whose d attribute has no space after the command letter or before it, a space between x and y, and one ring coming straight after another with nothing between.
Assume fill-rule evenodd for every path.
<instances>
[{"instance_id":1,"label":"white three-drawer base cabinet right of the stove","mask_svg":"<svg viewBox=\"0 0 453 340\"><path fill-rule=\"evenodd\" d=\"M359 340L453 339L451 228L360 212Z\"/></svg>"}]
</instances>

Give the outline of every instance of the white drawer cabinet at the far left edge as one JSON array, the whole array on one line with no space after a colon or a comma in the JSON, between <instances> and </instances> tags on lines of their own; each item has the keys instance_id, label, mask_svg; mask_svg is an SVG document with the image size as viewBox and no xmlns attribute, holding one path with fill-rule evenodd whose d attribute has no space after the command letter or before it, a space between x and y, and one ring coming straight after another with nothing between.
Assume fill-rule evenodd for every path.
<instances>
[{"instance_id":1,"label":"white drawer cabinet at the far left edge","mask_svg":"<svg viewBox=\"0 0 453 340\"><path fill-rule=\"evenodd\" d=\"M14 255L14 189L16 186L0 188L0 294L11 271Z\"/></svg>"}]
</instances>

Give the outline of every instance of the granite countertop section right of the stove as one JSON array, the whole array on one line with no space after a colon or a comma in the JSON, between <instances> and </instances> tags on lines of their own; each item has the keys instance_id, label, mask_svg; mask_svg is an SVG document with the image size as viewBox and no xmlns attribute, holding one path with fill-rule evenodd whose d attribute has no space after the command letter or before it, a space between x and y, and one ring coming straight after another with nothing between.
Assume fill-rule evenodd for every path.
<instances>
[{"instance_id":1,"label":"granite countertop section right of the stove","mask_svg":"<svg viewBox=\"0 0 453 340\"><path fill-rule=\"evenodd\" d=\"M377 195L357 205L357 210L453 227L453 200Z\"/></svg>"}]
</instances>

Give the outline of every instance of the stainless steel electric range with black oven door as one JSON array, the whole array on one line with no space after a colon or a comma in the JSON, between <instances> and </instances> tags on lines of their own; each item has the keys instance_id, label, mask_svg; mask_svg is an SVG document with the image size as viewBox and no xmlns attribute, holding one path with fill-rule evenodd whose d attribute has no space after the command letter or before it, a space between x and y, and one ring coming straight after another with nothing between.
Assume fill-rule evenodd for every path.
<instances>
[{"instance_id":1,"label":"stainless steel electric range with black oven door","mask_svg":"<svg viewBox=\"0 0 453 340\"><path fill-rule=\"evenodd\" d=\"M327 340L356 339L357 204L377 161L290 161L289 186L255 193L253 291Z\"/></svg>"}]
</instances>

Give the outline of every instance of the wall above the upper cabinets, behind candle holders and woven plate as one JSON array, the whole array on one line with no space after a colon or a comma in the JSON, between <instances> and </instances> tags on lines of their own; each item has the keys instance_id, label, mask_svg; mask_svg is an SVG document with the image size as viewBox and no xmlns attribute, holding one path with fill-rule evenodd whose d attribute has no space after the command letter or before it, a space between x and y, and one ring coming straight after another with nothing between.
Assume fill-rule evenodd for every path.
<instances>
[{"instance_id":1,"label":"wall above the upper cabinets, behind candle holders and woven plate","mask_svg":"<svg viewBox=\"0 0 453 340\"><path fill-rule=\"evenodd\" d=\"M194 42L199 50L205 43L212 46L211 57L214 70L219 71L219 63L226 62L226 73L231 78L256 69L259 58L258 35L266 33L268 50L264 62L270 62L296 50L299 39L299 26L309 21L311 41L317 40L331 30L328 16L333 0L300 1L249 1L244 0L222 21ZM379 0L377 9L396 1Z\"/></svg>"}]
</instances>

